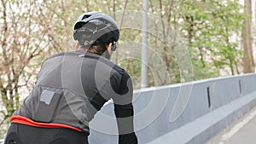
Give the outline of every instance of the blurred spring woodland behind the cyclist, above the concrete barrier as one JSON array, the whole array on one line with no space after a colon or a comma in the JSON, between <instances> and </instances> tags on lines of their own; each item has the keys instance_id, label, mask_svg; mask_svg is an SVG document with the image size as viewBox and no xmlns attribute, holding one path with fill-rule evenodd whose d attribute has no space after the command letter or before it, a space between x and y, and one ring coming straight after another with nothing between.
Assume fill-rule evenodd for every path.
<instances>
[{"instance_id":1,"label":"blurred spring woodland behind the cyclist, above the concrete barrier","mask_svg":"<svg viewBox=\"0 0 256 144\"><path fill-rule=\"evenodd\" d=\"M145 3L145 2L144 2ZM148 83L178 84L255 72L254 0L1 0L0 139L9 118L36 81L45 58L75 50L73 24L80 14L109 14L120 28L112 60L142 88L143 12L148 12ZM175 49L188 53L184 78ZM144 87L144 86L143 86Z\"/></svg>"}]
</instances>

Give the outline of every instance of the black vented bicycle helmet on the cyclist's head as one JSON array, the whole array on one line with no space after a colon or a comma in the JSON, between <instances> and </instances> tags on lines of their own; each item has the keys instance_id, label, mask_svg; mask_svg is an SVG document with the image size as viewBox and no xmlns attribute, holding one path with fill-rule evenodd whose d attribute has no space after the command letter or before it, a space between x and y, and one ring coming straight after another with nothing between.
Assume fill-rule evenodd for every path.
<instances>
[{"instance_id":1,"label":"black vented bicycle helmet on the cyclist's head","mask_svg":"<svg viewBox=\"0 0 256 144\"><path fill-rule=\"evenodd\" d=\"M80 15L73 27L74 40L84 43L84 35L90 36L92 43L96 40L103 43L114 43L119 40L119 28L108 14L89 12Z\"/></svg>"}]
</instances>

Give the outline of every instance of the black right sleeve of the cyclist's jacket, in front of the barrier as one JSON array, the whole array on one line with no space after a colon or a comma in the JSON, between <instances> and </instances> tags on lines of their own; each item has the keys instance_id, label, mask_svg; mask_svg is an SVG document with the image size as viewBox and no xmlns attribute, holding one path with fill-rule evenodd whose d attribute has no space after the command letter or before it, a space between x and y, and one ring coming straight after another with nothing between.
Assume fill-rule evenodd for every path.
<instances>
[{"instance_id":1,"label":"black right sleeve of the cyclist's jacket, in front of the barrier","mask_svg":"<svg viewBox=\"0 0 256 144\"><path fill-rule=\"evenodd\" d=\"M118 95L113 97L113 102L119 130L119 144L137 144L137 135L133 126L133 88L131 78L126 72L122 73L117 92Z\"/></svg>"}]
</instances>

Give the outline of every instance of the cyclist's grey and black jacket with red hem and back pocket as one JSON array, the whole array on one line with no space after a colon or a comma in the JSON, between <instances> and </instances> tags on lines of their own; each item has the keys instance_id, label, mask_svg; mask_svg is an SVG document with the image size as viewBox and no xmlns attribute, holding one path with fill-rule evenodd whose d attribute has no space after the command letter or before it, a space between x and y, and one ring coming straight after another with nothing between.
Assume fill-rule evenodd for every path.
<instances>
[{"instance_id":1,"label":"cyclist's grey and black jacket with red hem and back pocket","mask_svg":"<svg viewBox=\"0 0 256 144\"><path fill-rule=\"evenodd\" d=\"M44 60L37 82L12 123L67 128L87 133L96 112L113 99L119 143L137 141L133 128L131 78L101 55L78 50ZM102 122L104 123L104 122Z\"/></svg>"}]
</instances>

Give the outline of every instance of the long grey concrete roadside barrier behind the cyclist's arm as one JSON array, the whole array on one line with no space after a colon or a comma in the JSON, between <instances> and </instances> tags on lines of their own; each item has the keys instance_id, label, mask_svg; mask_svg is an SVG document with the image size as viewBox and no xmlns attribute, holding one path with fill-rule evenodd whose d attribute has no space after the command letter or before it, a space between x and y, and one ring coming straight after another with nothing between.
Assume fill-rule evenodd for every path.
<instances>
[{"instance_id":1,"label":"long grey concrete roadside barrier behind the cyclist's arm","mask_svg":"<svg viewBox=\"0 0 256 144\"><path fill-rule=\"evenodd\" d=\"M255 104L255 74L137 89L135 130L141 144L203 144ZM118 143L113 103L90 127L90 143Z\"/></svg>"}]
</instances>

